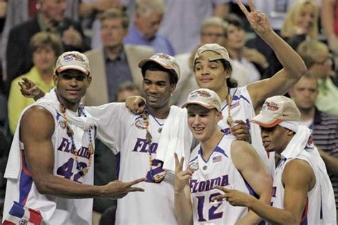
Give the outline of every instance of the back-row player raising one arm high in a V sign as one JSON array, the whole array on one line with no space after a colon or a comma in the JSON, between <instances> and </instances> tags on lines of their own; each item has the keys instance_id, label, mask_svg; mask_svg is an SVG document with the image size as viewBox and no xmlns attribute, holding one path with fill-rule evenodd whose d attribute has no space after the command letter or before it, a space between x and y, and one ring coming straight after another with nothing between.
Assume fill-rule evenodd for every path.
<instances>
[{"instance_id":1,"label":"back-row player raising one arm high in a V sign","mask_svg":"<svg viewBox=\"0 0 338 225\"><path fill-rule=\"evenodd\" d=\"M245 140L252 146L273 174L274 157L267 161L267 153L262 145L260 127L250 124L250 119L260 111L264 100L272 95L284 95L306 72L307 68L302 58L278 36L271 28L270 22L260 12L255 11L252 1L249 1L251 12L245 9L240 1L237 4L242 9L252 28L275 51L282 63L283 69L270 79L250 83L245 87L236 88L235 80L231 80L232 68L227 50L218 44L206 44L198 48L194 59L195 78L200 88L214 90L222 100L223 119L218 123L225 135L233 134L237 140ZM128 107L139 112L141 100L130 99ZM229 108L228 105L231 105ZM250 129L249 129L250 128Z\"/></svg>"}]
</instances>

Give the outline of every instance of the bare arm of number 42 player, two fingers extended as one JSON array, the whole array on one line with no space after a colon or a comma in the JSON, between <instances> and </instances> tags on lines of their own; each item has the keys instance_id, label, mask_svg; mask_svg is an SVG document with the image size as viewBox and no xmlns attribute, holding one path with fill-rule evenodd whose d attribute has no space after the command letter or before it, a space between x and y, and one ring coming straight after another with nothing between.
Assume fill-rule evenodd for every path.
<instances>
[{"instance_id":1,"label":"bare arm of number 42 player, two fingers extended","mask_svg":"<svg viewBox=\"0 0 338 225\"><path fill-rule=\"evenodd\" d=\"M104 186L93 186L73 182L70 179L53 174L54 151L51 137L54 132L54 120L50 112L40 106L34 106L24 112L20 123L20 137L24 143L24 153L34 184L41 194L52 194L66 198L124 197L128 192L143 191L132 187L143 182L110 182Z\"/></svg>"}]
</instances>

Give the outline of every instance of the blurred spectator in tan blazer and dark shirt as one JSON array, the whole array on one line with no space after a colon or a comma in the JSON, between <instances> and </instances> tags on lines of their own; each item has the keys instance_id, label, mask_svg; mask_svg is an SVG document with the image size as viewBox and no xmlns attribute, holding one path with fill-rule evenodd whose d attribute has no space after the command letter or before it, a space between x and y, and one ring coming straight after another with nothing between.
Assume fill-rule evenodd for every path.
<instances>
[{"instance_id":1,"label":"blurred spectator in tan blazer and dark shirt","mask_svg":"<svg viewBox=\"0 0 338 225\"><path fill-rule=\"evenodd\" d=\"M128 33L128 16L121 10L108 9L101 16L103 47L86 52L91 73L95 77L83 102L85 105L103 105L116 100L121 83L133 81L141 87L142 75L138 62L155 53L148 46L123 44Z\"/></svg>"}]
</instances>

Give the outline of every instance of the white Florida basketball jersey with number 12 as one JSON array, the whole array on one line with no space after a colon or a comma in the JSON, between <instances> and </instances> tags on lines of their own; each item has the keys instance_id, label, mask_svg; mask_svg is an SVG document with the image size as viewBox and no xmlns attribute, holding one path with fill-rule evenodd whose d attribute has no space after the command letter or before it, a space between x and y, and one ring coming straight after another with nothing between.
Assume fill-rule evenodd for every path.
<instances>
[{"instance_id":1,"label":"white Florida basketball jersey with number 12","mask_svg":"<svg viewBox=\"0 0 338 225\"><path fill-rule=\"evenodd\" d=\"M190 157L189 167L197 169L190 179L194 224L235 224L247 214L247 207L231 206L228 202L211 201L222 192L215 185L255 194L232 163L230 147L235 138L223 136L208 160L203 159L198 145Z\"/></svg>"}]
</instances>

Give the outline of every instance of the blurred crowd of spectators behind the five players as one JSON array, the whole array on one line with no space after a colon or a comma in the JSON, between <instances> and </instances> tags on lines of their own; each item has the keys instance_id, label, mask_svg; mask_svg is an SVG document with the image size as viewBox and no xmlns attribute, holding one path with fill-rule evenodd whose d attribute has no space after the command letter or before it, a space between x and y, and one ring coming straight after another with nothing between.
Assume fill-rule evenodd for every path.
<instances>
[{"instance_id":1,"label":"blurred crowd of spectators behind the five players","mask_svg":"<svg viewBox=\"0 0 338 225\"><path fill-rule=\"evenodd\" d=\"M289 94L322 150L337 202L338 172L332 160L338 157L338 1L254 3L307 66L307 75ZM181 105L198 88L192 62L205 43L227 48L232 78L240 86L270 78L282 68L243 18L232 0L0 0L0 211L11 135L21 112L34 102L21 95L21 78L47 92L53 88L56 58L63 51L81 51L93 76L83 103L123 102L142 95L138 62L167 53L180 65L173 104ZM96 141L95 154L95 184L115 179L111 150ZM109 217L115 206L113 200L95 199L93 210Z\"/></svg>"}]
</instances>

